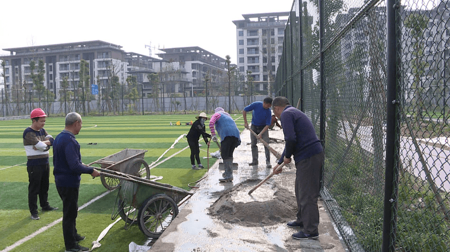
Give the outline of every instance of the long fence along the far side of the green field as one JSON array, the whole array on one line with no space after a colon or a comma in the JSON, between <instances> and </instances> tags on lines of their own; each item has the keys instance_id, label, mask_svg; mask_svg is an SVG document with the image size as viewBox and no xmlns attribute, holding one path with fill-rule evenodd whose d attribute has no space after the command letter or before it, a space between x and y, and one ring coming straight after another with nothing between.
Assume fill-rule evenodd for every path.
<instances>
[{"instance_id":1,"label":"long fence along the far side of the green field","mask_svg":"<svg viewBox=\"0 0 450 252\"><path fill-rule=\"evenodd\" d=\"M83 87L57 89L56 93L48 89L9 89L0 93L0 116L26 116L35 108L53 116L69 112L83 116L213 113L217 107L240 112L248 104L263 100L273 83L230 82L229 86L232 92L228 92L228 83L215 82L195 87L189 87L189 83L157 84L157 92L145 85L100 86L94 92Z\"/></svg>"}]
</instances>

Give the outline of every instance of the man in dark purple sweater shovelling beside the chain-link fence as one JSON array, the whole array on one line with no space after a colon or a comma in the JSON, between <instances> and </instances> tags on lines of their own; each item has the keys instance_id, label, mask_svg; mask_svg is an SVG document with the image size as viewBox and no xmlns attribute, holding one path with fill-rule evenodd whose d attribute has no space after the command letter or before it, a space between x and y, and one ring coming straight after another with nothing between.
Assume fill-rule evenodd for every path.
<instances>
[{"instance_id":1,"label":"man in dark purple sweater shovelling beside the chain-link fence","mask_svg":"<svg viewBox=\"0 0 450 252\"><path fill-rule=\"evenodd\" d=\"M317 198L320 191L320 176L324 154L322 144L310 119L289 105L286 97L273 99L272 109L283 125L285 147L276 171L283 162L288 164L291 157L295 161L295 198L297 200L297 218L287 223L288 227L301 229L292 234L295 239L317 239L319 237L319 208Z\"/></svg>"}]
</instances>

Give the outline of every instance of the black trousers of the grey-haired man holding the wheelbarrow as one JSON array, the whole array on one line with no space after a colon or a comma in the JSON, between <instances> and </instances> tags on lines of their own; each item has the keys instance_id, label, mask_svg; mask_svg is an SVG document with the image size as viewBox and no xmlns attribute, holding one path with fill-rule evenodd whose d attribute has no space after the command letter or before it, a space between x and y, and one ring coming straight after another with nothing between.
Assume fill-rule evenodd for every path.
<instances>
[{"instance_id":1,"label":"black trousers of the grey-haired man holding the wheelbarrow","mask_svg":"<svg viewBox=\"0 0 450 252\"><path fill-rule=\"evenodd\" d=\"M63 236L66 249L76 246L77 235L76 219L78 216L78 191L79 187L59 187L56 189L63 200Z\"/></svg>"}]
</instances>

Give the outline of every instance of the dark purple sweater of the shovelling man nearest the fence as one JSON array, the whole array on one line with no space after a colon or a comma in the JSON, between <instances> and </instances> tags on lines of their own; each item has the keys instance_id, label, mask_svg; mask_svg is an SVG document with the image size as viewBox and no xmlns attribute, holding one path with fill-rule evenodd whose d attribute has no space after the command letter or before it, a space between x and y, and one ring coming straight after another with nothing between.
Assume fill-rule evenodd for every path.
<instances>
[{"instance_id":1,"label":"dark purple sweater of the shovelling man nearest the fence","mask_svg":"<svg viewBox=\"0 0 450 252\"><path fill-rule=\"evenodd\" d=\"M323 152L313 123L305 113L288 105L281 113L280 121L286 145L278 163L282 163L284 157L291 158L292 155L297 163Z\"/></svg>"}]
</instances>

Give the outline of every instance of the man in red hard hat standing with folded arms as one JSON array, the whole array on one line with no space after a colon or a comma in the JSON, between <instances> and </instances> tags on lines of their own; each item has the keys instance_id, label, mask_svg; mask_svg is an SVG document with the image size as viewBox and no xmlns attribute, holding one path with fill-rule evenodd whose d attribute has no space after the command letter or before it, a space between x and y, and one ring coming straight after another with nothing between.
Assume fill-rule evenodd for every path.
<instances>
[{"instance_id":1,"label":"man in red hard hat standing with folded arms","mask_svg":"<svg viewBox=\"0 0 450 252\"><path fill-rule=\"evenodd\" d=\"M28 172L28 207L32 220L39 220L37 211L37 197L42 211L54 211L48 204L48 180L50 166L48 163L48 149L53 144L53 137L44 129L45 112L40 108L31 111L31 126L23 132L23 146L27 154Z\"/></svg>"}]
</instances>

